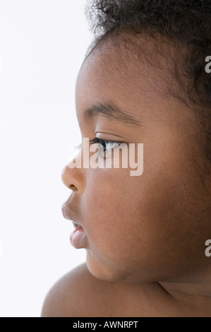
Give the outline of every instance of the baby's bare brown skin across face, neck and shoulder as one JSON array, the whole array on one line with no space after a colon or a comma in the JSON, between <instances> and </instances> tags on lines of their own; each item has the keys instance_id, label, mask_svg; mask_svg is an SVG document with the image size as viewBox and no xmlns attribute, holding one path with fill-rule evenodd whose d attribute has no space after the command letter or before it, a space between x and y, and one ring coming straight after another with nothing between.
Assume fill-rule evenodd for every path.
<instances>
[{"instance_id":1,"label":"baby's bare brown skin across face, neck and shoulder","mask_svg":"<svg viewBox=\"0 0 211 332\"><path fill-rule=\"evenodd\" d=\"M102 47L78 74L82 136L143 143L144 172L64 168L87 262L56 283L42 316L211 316L210 178L203 177L200 124L167 95L163 59L155 67L135 61L133 52L122 50L120 61L115 47ZM85 118L86 109L104 102L136 123Z\"/></svg>"}]
</instances>

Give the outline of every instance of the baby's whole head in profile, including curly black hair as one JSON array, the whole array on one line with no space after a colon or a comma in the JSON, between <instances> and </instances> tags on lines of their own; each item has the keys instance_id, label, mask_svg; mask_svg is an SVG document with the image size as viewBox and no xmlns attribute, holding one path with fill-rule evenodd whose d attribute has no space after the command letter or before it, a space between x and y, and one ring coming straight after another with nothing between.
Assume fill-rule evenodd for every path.
<instances>
[{"instance_id":1,"label":"baby's whole head in profile, including curly black hair","mask_svg":"<svg viewBox=\"0 0 211 332\"><path fill-rule=\"evenodd\" d=\"M140 176L130 167L64 168L73 190L64 215L83 227L75 243L97 278L211 273L211 13L203 2L96 0L87 9L95 40L76 83L82 137L97 137L102 160L111 158L104 141L143 143Z\"/></svg>"}]
</instances>

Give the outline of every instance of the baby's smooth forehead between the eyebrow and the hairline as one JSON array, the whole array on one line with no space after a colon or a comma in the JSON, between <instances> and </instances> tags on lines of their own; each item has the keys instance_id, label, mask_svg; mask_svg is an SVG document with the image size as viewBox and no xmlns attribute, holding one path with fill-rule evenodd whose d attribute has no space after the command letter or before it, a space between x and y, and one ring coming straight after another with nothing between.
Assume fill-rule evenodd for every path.
<instances>
[{"instance_id":1,"label":"baby's smooth forehead between the eyebrow and the hairline","mask_svg":"<svg viewBox=\"0 0 211 332\"><path fill-rule=\"evenodd\" d=\"M183 121L190 111L167 92L171 81L164 57L149 60L146 53L135 54L124 45L102 46L85 59L76 81L76 110L102 102L113 102L121 109L144 121ZM144 117L144 119L143 119Z\"/></svg>"}]
</instances>

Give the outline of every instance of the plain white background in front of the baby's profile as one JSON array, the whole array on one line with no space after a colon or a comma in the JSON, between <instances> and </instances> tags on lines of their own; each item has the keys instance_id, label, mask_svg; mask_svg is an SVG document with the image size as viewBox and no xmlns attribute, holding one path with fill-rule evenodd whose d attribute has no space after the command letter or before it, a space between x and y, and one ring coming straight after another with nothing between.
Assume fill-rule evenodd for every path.
<instances>
[{"instance_id":1,"label":"plain white background in front of the baby's profile","mask_svg":"<svg viewBox=\"0 0 211 332\"><path fill-rule=\"evenodd\" d=\"M84 8L0 0L0 316L40 316L49 288L85 261L61 213L67 148L80 143L76 77L92 37Z\"/></svg>"}]
</instances>

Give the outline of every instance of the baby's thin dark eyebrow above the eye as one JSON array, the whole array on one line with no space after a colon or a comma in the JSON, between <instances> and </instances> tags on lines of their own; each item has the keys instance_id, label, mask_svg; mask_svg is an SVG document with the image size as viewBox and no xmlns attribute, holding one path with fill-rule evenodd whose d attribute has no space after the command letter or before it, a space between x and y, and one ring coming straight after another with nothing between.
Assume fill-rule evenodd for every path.
<instances>
[{"instance_id":1,"label":"baby's thin dark eyebrow above the eye","mask_svg":"<svg viewBox=\"0 0 211 332\"><path fill-rule=\"evenodd\" d=\"M114 102L105 102L93 105L92 107L86 109L84 117L85 119L90 120L92 117L95 117L98 114L102 115L103 117L107 117L107 119L113 119L125 124L131 124L133 126L140 126L138 119L135 119L135 117L123 111L123 109L120 109L114 104Z\"/></svg>"}]
</instances>

